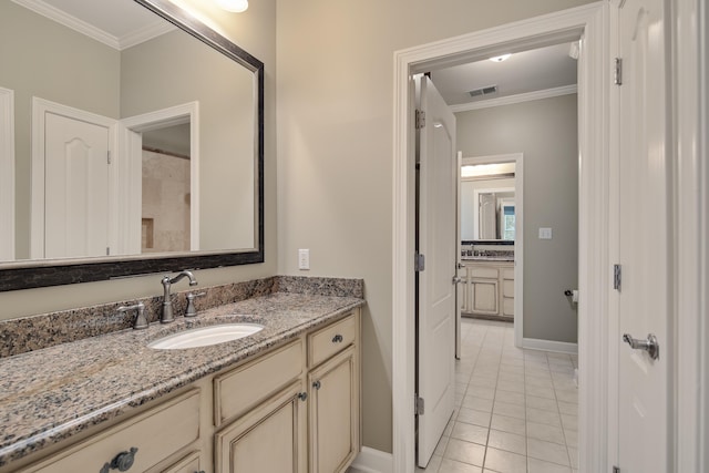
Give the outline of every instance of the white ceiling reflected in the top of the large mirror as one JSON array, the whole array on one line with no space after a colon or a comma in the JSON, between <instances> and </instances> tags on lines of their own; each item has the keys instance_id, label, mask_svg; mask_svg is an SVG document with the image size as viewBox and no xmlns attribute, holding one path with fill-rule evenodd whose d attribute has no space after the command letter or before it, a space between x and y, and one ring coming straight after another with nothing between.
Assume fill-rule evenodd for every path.
<instances>
[{"instance_id":1,"label":"white ceiling reflected in the top of the large mirror","mask_svg":"<svg viewBox=\"0 0 709 473\"><path fill-rule=\"evenodd\" d=\"M12 1L117 50L175 28L133 0Z\"/></svg>"}]
</instances>

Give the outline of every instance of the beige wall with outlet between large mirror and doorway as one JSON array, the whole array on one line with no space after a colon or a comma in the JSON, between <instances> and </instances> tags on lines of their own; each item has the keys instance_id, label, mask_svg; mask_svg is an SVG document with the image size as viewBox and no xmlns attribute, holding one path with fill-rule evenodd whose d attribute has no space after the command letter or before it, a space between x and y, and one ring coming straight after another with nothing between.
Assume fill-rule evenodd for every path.
<instances>
[{"instance_id":1,"label":"beige wall with outlet between large mirror and doorway","mask_svg":"<svg viewBox=\"0 0 709 473\"><path fill-rule=\"evenodd\" d=\"M278 268L364 278L367 446L392 445L393 53L587 2L278 2Z\"/></svg>"}]
</instances>

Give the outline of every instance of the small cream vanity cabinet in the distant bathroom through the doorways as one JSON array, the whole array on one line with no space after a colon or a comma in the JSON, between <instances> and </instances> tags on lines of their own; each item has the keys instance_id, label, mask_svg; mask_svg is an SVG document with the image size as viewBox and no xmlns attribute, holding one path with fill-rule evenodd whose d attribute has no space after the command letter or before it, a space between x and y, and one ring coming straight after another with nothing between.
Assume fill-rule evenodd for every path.
<instances>
[{"instance_id":1,"label":"small cream vanity cabinet in the distant bathroom through the doorways","mask_svg":"<svg viewBox=\"0 0 709 473\"><path fill-rule=\"evenodd\" d=\"M489 318L514 317L514 264L511 261L463 261L461 311Z\"/></svg>"}]
</instances>

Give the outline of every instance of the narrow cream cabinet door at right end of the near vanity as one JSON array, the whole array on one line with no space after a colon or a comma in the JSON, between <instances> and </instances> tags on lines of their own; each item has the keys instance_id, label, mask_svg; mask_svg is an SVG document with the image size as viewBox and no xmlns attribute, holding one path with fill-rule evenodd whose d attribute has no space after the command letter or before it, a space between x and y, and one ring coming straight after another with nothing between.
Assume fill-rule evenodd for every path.
<instances>
[{"instance_id":1,"label":"narrow cream cabinet door at right end of the near vanity","mask_svg":"<svg viewBox=\"0 0 709 473\"><path fill-rule=\"evenodd\" d=\"M359 452L359 379L356 347L333 357L310 384L310 473L347 470Z\"/></svg>"}]
</instances>

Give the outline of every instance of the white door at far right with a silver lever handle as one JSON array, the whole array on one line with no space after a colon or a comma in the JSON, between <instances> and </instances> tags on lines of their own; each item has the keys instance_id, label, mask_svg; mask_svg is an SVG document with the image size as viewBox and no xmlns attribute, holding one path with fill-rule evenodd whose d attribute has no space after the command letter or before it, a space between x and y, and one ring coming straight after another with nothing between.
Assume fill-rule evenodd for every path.
<instances>
[{"instance_id":1,"label":"white door at far right with a silver lever handle","mask_svg":"<svg viewBox=\"0 0 709 473\"><path fill-rule=\"evenodd\" d=\"M620 265L618 466L671 471L668 315L671 310L669 116L665 0L620 8ZM659 358L621 341L657 337Z\"/></svg>"}]
</instances>

